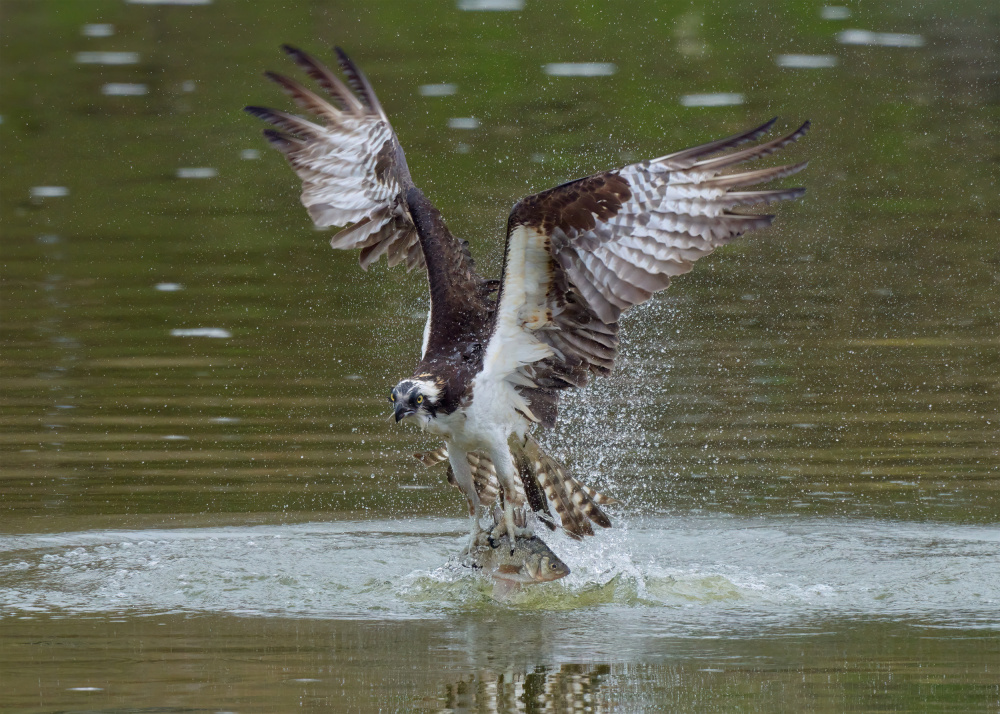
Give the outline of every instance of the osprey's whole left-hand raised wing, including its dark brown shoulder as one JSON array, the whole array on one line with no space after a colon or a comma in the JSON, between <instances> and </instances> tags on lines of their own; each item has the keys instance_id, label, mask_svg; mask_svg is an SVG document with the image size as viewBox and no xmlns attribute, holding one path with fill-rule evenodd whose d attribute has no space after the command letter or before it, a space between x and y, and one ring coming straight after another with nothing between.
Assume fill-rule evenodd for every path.
<instances>
[{"instance_id":1,"label":"osprey's whole left-hand raised wing, including its dark brown shoulder","mask_svg":"<svg viewBox=\"0 0 1000 714\"><path fill-rule=\"evenodd\" d=\"M486 331L492 313L486 296L491 284L475 270L468 243L448 231L440 212L413 185L406 157L368 79L336 48L351 89L302 50L282 49L334 100L327 100L276 72L277 83L302 109L323 124L266 107L247 107L281 131L265 130L302 179L302 205L317 228L353 224L330 239L338 249L361 250L361 267L383 255L390 266L405 261L423 267L431 292L428 332L434 346L447 350L456 334ZM425 350L427 344L425 342Z\"/></svg>"}]
</instances>

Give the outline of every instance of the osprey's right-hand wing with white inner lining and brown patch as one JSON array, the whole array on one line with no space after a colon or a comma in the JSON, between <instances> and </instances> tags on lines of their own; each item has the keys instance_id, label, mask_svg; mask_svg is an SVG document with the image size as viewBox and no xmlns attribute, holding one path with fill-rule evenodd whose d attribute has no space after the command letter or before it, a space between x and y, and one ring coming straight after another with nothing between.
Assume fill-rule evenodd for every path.
<instances>
[{"instance_id":1,"label":"osprey's right-hand wing with white inner lining and brown patch","mask_svg":"<svg viewBox=\"0 0 1000 714\"><path fill-rule=\"evenodd\" d=\"M771 215L731 209L798 198L802 188L734 190L788 176L805 163L722 174L801 137L740 151L774 123L651 161L606 171L523 199L507 224L496 327L484 372L520 388L533 416L555 421L559 391L610 372L624 310Z\"/></svg>"}]
</instances>

